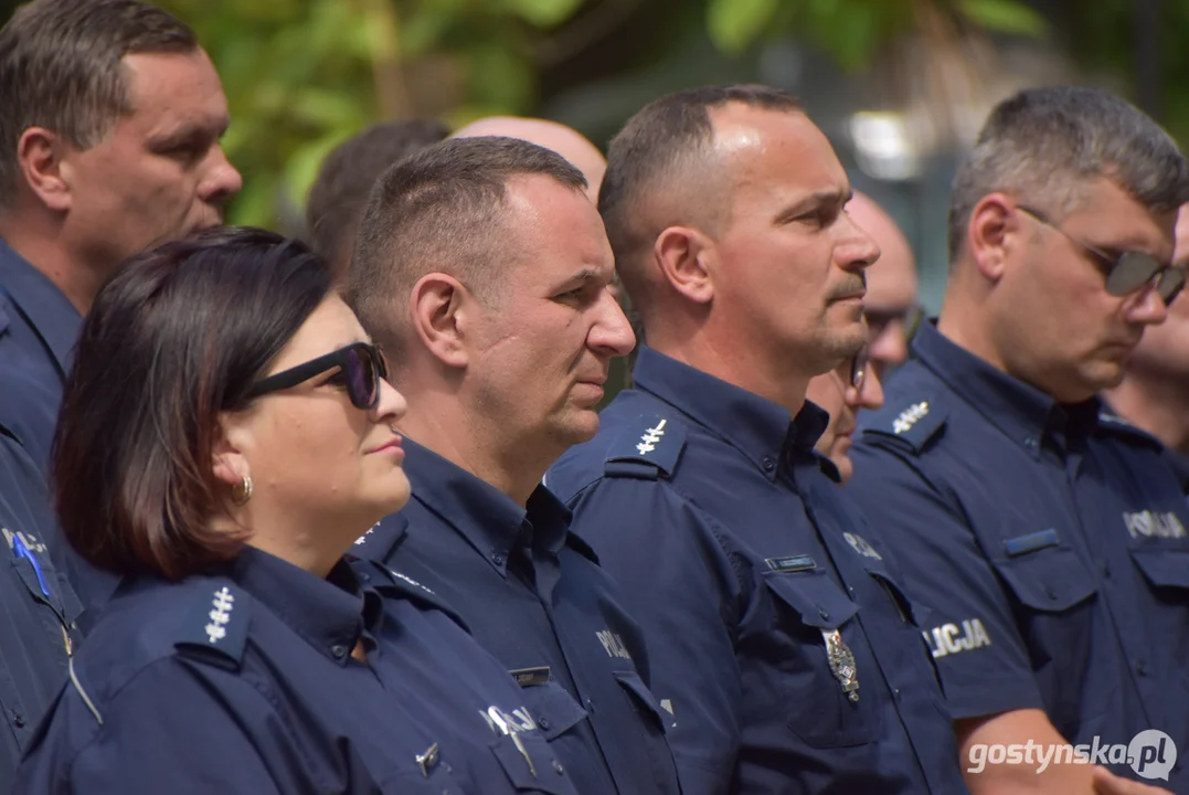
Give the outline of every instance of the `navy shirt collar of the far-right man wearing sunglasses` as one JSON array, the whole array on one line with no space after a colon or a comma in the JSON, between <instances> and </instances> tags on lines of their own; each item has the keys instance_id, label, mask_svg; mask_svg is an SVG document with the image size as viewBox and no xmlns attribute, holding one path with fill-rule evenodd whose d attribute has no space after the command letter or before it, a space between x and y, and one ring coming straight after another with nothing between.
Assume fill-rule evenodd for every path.
<instances>
[{"instance_id":1,"label":"navy shirt collar of the far-right man wearing sunglasses","mask_svg":"<svg viewBox=\"0 0 1189 795\"><path fill-rule=\"evenodd\" d=\"M1030 455L1040 455L1046 434L1068 449L1084 441L1097 422L1097 400L1059 404L1030 384L1008 376L923 323L912 352L964 402L975 408Z\"/></svg>"}]
</instances>

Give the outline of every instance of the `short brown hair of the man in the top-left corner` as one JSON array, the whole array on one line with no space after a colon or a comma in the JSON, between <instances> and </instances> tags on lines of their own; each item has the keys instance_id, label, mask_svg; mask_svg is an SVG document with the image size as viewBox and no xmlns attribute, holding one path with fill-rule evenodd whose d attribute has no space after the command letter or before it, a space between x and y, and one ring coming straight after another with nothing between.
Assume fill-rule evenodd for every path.
<instances>
[{"instance_id":1,"label":"short brown hair of the man in the top-left corner","mask_svg":"<svg viewBox=\"0 0 1189 795\"><path fill-rule=\"evenodd\" d=\"M137 0L33 0L0 30L0 204L18 184L17 144L45 127L87 150L134 111L121 61L191 52L184 23Z\"/></svg>"}]
</instances>

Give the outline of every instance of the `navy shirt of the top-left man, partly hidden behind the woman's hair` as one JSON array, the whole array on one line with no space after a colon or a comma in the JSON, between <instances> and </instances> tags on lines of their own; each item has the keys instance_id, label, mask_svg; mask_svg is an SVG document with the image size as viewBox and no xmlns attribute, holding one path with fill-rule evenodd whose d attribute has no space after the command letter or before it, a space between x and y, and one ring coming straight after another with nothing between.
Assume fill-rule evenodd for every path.
<instances>
[{"instance_id":1,"label":"navy shirt of the top-left man, partly hidden behind the woman's hair","mask_svg":"<svg viewBox=\"0 0 1189 795\"><path fill-rule=\"evenodd\" d=\"M74 304L0 240L0 448L32 460L43 481L81 329L82 316ZM0 484L0 490L8 488ZM111 594L115 579L87 566L62 541L56 519L49 518L42 536L84 605Z\"/></svg>"}]
</instances>

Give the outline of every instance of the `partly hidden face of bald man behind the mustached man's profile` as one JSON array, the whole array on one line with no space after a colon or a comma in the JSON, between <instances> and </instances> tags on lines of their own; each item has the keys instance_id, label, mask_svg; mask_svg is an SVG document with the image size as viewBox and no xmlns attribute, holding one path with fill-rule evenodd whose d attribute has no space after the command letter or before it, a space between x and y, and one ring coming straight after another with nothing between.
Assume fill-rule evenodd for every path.
<instances>
[{"instance_id":1,"label":"partly hidden face of bald man behind the mustached man's profile","mask_svg":"<svg viewBox=\"0 0 1189 795\"><path fill-rule=\"evenodd\" d=\"M869 329L872 368L882 377L888 366L904 364L908 358L910 332L920 318L917 263L904 232L870 196L855 191L847 213L872 235L881 252L879 264L867 271L863 315Z\"/></svg>"}]
</instances>

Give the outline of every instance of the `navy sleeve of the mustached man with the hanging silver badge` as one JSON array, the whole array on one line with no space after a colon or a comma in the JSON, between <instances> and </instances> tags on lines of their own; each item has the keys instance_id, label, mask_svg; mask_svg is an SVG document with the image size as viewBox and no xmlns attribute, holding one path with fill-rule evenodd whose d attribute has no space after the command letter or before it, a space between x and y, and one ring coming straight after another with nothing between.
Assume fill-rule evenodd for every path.
<instances>
[{"instance_id":1,"label":"navy sleeve of the mustached man with the hanging silver badge","mask_svg":"<svg viewBox=\"0 0 1189 795\"><path fill-rule=\"evenodd\" d=\"M741 731L734 648L740 585L721 531L653 481L604 479L572 506L574 529L619 582L643 630L682 791L728 793Z\"/></svg>"}]
</instances>

